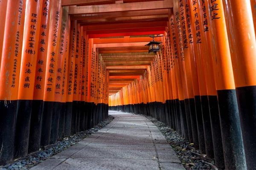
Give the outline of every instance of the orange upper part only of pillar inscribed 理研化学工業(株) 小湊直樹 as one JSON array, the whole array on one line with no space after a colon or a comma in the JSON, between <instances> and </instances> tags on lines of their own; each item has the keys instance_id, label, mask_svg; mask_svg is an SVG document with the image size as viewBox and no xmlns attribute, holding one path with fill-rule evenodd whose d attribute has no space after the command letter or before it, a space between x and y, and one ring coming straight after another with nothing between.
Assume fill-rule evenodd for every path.
<instances>
[{"instance_id":1,"label":"orange upper part only of pillar inscribed \u7406\u7814\u5316\u5b66\u5de5\u696d(\u682a) \u5c0f\u6e4a\u76f4\u6a39","mask_svg":"<svg viewBox=\"0 0 256 170\"><path fill-rule=\"evenodd\" d=\"M20 69L19 99L33 99L38 55L38 38L41 26L42 1L29 0L26 9L22 63ZM23 4L24 5L24 4ZM29 95L28 95L29 94Z\"/></svg>"}]
</instances>

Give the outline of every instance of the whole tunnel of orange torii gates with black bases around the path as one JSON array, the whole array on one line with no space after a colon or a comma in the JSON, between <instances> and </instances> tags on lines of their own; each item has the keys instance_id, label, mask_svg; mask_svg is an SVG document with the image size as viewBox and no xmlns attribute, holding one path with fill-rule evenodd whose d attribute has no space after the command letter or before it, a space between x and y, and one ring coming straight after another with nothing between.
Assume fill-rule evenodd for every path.
<instances>
[{"instance_id":1,"label":"whole tunnel of orange torii gates with black bases around the path","mask_svg":"<svg viewBox=\"0 0 256 170\"><path fill-rule=\"evenodd\" d=\"M221 169L256 169L256 0L146 1L0 0L1 165L110 109L157 118Z\"/></svg>"}]
</instances>

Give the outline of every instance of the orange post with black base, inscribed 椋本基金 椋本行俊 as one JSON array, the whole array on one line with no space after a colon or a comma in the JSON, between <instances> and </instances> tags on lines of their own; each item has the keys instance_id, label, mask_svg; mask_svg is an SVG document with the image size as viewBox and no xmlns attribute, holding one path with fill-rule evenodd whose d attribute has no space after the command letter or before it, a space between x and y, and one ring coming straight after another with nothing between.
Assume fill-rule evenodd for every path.
<instances>
[{"instance_id":1,"label":"orange post with black base, inscribed \u690b\u672c\u57fa\u91d1 \u690b\u672c\u884c\u4fca","mask_svg":"<svg viewBox=\"0 0 256 170\"><path fill-rule=\"evenodd\" d=\"M52 1L44 0L41 11L41 27L39 35L38 54L35 69L35 85L32 101L32 114L29 132L29 153L33 153L40 148L41 121L44 100L44 80L46 73L46 59L49 38L49 14Z\"/></svg>"}]
</instances>

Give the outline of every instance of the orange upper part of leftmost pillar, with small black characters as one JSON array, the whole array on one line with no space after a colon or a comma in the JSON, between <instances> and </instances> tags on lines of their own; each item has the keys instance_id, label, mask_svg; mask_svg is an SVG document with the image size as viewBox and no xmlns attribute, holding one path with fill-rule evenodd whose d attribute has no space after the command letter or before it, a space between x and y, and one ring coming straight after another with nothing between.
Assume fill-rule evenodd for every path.
<instances>
[{"instance_id":1,"label":"orange upper part of leftmost pillar, with small black characters","mask_svg":"<svg viewBox=\"0 0 256 170\"><path fill-rule=\"evenodd\" d=\"M2 26L3 29L1 29L1 31L3 31L1 32L3 36L1 40L3 43L0 43L2 45L0 47L0 52L2 52L0 54L1 100L17 100L18 96L26 0L19 0L17 2L19 3L11 4L11 7L15 8L15 11L9 14L8 20L6 20L5 25ZM2 7L4 5L3 3L6 3L5 8L7 8L7 2L2 1L0 4ZM4 14L6 15L6 12ZM15 14L18 14L18 16ZM4 21L4 19L2 21Z\"/></svg>"}]
</instances>

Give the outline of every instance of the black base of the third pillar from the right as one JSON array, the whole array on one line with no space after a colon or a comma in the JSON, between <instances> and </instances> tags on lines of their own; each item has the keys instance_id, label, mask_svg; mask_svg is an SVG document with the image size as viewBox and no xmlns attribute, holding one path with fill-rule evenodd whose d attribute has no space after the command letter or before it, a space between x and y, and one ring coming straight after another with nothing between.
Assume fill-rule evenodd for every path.
<instances>
[{"instance_id":1,"label":"black base of the third pillar from the right","mask_svg":"<svg viewBox=\"0 0 256 170\"><path fill-rule=\"evenodd\" d=\"M221 125L218 111L218 98L217 96L208 96L208 100L211 116L212 143L214 150L215 165L221 169L225 169L221 138Z\"/></svg>"}]
</instances>

